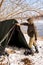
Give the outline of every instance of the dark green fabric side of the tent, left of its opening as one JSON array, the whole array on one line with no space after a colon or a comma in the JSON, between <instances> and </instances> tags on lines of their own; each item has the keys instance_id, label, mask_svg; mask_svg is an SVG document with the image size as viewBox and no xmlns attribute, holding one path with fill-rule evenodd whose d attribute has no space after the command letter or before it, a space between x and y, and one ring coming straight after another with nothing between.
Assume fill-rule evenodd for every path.
<instances>
[{"instance_id":1,"label":"dark green fabric side of the tent, left of its opening","mask_svg":"<svg viewBox=\"0 0 43 65\"><path fill-rule=\"evenodd\" d=\"M12 31L15 23L17 23L17 21L14 19L0 21L0 46L3 48L6 47L8 43L8 36Z\"/></svg>"}]
</instances>

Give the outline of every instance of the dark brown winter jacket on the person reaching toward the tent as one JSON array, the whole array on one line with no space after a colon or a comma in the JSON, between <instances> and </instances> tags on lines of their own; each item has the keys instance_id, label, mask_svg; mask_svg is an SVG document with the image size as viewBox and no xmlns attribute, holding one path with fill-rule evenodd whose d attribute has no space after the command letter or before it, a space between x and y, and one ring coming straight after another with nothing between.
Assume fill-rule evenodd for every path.
<instances>
[{"instance_id":1,"label":"dark brown winter jacket on the person reaching toward the tent","mask_svg":"<svg viewBox=\"0 0 43 65\"><path fill-rule=\"evenodd\" d=\"M37 40L37 31L36 31L36 27L34 26L34 24L30 24L30 23L21 23L21 25L25 25L28 26L28 30L27 30L27 34L30 37L33 37L33 35L35 36L35 40Z\"/></svg>"}]
</instances>

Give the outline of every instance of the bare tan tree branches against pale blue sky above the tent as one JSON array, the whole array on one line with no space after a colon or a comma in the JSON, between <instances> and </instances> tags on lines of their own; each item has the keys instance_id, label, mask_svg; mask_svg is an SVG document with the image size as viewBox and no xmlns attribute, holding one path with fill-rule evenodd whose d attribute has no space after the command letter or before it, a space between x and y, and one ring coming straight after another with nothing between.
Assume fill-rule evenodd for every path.
<instances>
[{"instance_id":1,"label":"bare tan tree branches against pale blue sky above the tent","mask_svg":"<svg viewBox=\"0 0 43 65\"><path fill-rule=\"evenodd\" d=\"M42 0L1 0L0 20L43 17Z\"/></svg>"}]
</instances>

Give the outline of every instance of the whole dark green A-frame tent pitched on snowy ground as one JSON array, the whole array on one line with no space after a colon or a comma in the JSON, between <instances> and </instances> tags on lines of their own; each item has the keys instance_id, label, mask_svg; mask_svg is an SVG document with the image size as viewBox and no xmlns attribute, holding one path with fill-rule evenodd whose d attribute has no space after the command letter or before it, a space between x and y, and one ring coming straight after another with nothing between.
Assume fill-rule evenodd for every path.
<instances>
[{"instance_id":1,"label":"whole dark green A-frame tent pitched on snowy ground","mask_svg":"<svg viewBox=\"0 0 43 65\"><path fill-rule=\"evenodd\" d=\"M0 51L4 50L6 45L28 47L25 37L15 19L0 21Z\"/></svg>"}]
</instances>

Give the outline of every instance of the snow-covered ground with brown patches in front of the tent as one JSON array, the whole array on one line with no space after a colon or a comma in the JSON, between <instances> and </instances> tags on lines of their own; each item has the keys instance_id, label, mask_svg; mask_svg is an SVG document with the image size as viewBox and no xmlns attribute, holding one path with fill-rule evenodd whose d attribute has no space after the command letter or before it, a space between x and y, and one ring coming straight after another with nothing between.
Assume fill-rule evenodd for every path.
<instances>
[{"instance_id":1,"label":"snow-covered ground with brown patches in front of the tent","mask_svg":"<svg viewBox=\"0 0 43 65\"><path fill-rule=\"evenodd\" d=\"M37 40L39 53L24 55L24 48L6 48L9 56L0 57L0 65L43 65L43 40Z\"/></svg>"}]
</instances>

